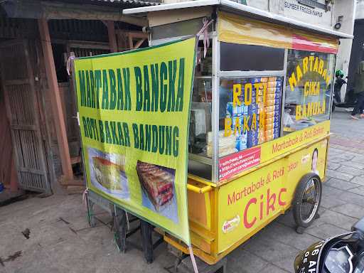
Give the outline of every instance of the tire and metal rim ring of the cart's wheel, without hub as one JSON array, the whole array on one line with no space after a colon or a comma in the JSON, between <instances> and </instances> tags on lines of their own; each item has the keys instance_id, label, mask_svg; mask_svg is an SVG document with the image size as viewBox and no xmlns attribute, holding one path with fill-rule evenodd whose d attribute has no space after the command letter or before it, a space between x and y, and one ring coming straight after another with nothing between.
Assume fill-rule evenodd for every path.
<instances>
[{"instance_id":1,"label":"tire and metal rim ring of the cart's wheel, without hub","mask_svg":"<svg viewBox=\"0 0 364 273\"><path fill-rule=\"evenodd\" d=\"M317 205L315 204L316 208L314 208L314 211L309 216L309 220L304 220L301 217L301 205L304 197L304 191L306 190L306 185L311 181L311 179L314 180L315 187L317 188L317 191L319 191L319 196L317 201ZM294 221L296 222L296 225L301 228L308 228L311 223L316 219L316 216L318 215L320 204L321 204L321 196L322 196L322 183L320 177L316 173L307 173L305 176L301 178L299 181L296 192L294 193L294 200L292 201L292 207L293 207L293 216Z\"/></svg>"}]
</instances>

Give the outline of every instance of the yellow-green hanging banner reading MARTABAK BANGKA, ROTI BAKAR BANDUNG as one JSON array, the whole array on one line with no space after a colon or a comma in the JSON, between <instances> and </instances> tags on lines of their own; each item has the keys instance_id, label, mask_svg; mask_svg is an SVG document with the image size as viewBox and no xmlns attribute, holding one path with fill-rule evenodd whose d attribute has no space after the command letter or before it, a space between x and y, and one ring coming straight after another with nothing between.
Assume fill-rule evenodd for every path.
<instances>
[{"instance_id":1,"label":"yellow-green hanging banner reading MARTABAK BANGKA, ROTI BAKAR BANDUNG","mask_svg":"<svg viewBox=\"0 0 364 273\"><path fill-rule=\"evenodd\" d=\"M190 38L74 62L87 187L188 245L195 53Z\"/></svg>"}]
</instances>

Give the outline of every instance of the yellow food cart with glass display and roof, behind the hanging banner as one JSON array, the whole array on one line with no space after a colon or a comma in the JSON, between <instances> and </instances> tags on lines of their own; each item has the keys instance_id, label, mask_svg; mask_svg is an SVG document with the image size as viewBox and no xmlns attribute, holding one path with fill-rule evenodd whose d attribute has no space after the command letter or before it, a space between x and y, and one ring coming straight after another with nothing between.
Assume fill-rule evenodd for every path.
<instances>
[{"instance_id":1,"label":"yellow food cart with glass display and roof, behind the hanging banner","mask_svg":"<svg viewBox=\"0 0 364 273\"><path fill-rule=\"evenodd\" d=\"M124 10L146 16L149 45L200 36L188 141L195 255L215 264L289 208L317 217L336 53L344 33L228 0ZM169 245L188 247L167 233Z\"/></svg>"}]
</instances>

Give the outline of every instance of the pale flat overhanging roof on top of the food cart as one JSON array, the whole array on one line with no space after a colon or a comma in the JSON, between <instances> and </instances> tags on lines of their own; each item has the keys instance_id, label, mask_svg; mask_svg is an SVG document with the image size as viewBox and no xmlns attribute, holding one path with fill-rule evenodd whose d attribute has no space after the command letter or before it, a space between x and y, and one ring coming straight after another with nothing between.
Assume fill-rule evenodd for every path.
<instances>
[{"instance_id":1,"label":"pale flat overhanging roof on top of the food cart","mask_svg":"<svg viewBox=\"0 0 364 273\"><path fill-rule=\"evenodd\" d=\"M123 14L140 14L145 15L148 12L153 11L166 11L171 9L187 9L203 6L219 6L224 11L230 11L235 14L241 14L244 16L250 16L261 19L262 21L269 21L272 23L279 23L285 26L291 26L294 28L301 28L309 30L311 32L321 33L329 36L335 36L336 38L353 38L353 35L346 34L339 31L333 31L329 28L323 28L321 26L315 26L311 23L305 23L292 18L287 18L277 14L272 14L268 11L262 11L261 9L253 8L244 4L239 4L230 0L197 0L197 1L185 1L173 4L162 4L158 6L144 6L141 8L124 9Z\"/></svg>"}]
</instances>

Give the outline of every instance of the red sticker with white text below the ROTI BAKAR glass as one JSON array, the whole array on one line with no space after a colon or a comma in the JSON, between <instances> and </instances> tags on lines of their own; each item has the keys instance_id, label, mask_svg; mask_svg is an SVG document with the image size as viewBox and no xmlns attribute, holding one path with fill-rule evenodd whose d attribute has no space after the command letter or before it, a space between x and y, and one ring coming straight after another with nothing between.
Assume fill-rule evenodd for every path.
<instances>
[{"instance_id":1,"label":"red sticker with white text below the ROTI BAKAR glass","mask_svg":"<svg viewBox=\"0 0 364 273\"><path fill-rule=\"evenodd\" d=\"M260 147L254 147L219 160L219 180L225 180L260 164Z\"/></svg>"}]
</instances>

